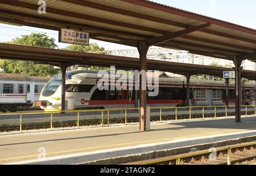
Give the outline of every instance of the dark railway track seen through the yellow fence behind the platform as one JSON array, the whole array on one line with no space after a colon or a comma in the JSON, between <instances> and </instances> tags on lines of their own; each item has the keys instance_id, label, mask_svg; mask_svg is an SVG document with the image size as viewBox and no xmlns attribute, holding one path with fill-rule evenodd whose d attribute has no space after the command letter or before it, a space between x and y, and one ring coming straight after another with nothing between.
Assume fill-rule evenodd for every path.
<instances>
[{"instance_id":1,"label":"dark railway track seen through the yellow fence behind the platform","mask_svg":"<svg viewBox=\"0 0 256 176\"><path fill-rule=\"evenodd\" d=\"M247 111L247 115L254 114L254 111ZM243 115L245 115L245 112L242 112ZM225 117L225 113L216 113L216 117ZM228 116L233 116L235 113L228 113ZM205 118L214 118L214 113L205 113ZM191 114L191 119L198 119L203 118L202 114ZM162 121L171 121L175 120L175 115L162 115ZM189 119L189 114L184 115L177 115L177 119ZM160 121L159 116L151 117L151 122ZM126 120L127 123L138 123L139 118L138 117L127 117ZM118 124L118 123L125 123L125 117L120 118L110 118L109 119L109 125L111 124ZM104 126L107 124L107 119L104 118ZM63 121L63 122L53 122L52 127L53 128L59 128L59 127L74 127L77 126L77 121L74 119L73 121ZM101 119L81 119L79 126L102 126ZM22 130L38 130L38 129L46 129L51 128L50 122L43 122L43 123L23 123L22 124ZM12 126L0 126L0 132L8 132L8 131L19 131L20 126L19 125L12 125Z\"/></svg>"}]
</instances>

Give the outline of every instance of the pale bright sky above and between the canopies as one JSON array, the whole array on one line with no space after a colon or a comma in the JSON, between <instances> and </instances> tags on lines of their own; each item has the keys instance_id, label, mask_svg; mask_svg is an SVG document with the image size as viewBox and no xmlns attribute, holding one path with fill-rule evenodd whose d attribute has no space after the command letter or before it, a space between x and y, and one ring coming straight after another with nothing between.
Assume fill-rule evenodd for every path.
<instances>
[{"instance_id":1,"label":"pale bright sky above and between the canopies","mask_svg":"<svg viewBox=\"0 0 256 176\"><path fill-rule=\"evenodd\" d=\"M256 29L256 0L154 0L154 2ZM59 48L68 46L58 42L57 31L2 23L0 23L0 42L10 41L21 35L30 35L32 32L44 32L49 37L55 38ZM93 42L97 42L106 50L134 49L130 46L90 39L90 43Z\"/></svg>"}]
</instances>

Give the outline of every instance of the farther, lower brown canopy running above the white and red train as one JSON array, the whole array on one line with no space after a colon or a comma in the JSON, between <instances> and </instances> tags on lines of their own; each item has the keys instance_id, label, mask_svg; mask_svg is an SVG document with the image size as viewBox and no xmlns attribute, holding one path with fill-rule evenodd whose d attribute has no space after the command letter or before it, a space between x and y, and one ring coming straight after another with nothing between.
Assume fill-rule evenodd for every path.
<instances>
[{"instance_id":1,"label":"farther, lower brown canopy running above the white and red train","mask_svg":"<svg viewBox=\"0 0 256 176\"><path fill-rule=\"evenodd\" d=\"M20 61L33 61L59 66L61 63L67 66L101 66L123 70L138 69L139 58L120 57L105 54L81 53L76 51L36 48L31 46L0 44L0 59L15 59ZM232 71L234 68L194 65L168 61L147 59L147 70L159 70L175 74L208 74L222 77L223 71ZM256 71L242 70L243 78L256 80Z\"/></svg>"}]
</instances>

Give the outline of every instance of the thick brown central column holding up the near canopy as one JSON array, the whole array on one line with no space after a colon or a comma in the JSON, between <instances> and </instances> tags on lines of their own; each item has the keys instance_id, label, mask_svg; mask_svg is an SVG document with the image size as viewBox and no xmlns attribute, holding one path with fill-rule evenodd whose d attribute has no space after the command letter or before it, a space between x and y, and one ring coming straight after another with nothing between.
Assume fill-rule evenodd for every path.
<instances>
[{"instance_id":1,"label":"thick brown central column holding up the near canopy","mask_svg":"<svg viewBox=\"0 0 256 176\"><path fill-rule=\"evenodd\" d=\"M139 51L139 71L147 71L147 51L146 41L138 41ZM146 76L145 76L146 77ZM146 131L146 89L142 89L142 85L147 85L146 79L142 79L139 75L139 130ZM146 77L147 78L147 77Z\"/></svg>"}]
</instances>

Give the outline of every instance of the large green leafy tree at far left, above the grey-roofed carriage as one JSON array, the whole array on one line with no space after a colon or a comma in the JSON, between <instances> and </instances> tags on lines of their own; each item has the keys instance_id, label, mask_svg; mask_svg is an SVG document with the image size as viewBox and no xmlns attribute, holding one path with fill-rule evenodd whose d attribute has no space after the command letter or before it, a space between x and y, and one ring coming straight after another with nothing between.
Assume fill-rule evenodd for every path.
<instances>
[{"instance_id":1,"label":"large green leafy tree at far left, above the grey-roofed carriage","mask_svg":"<svg viewBox=\"0 0 256 176\"><path fill-rule=\"evenodd\" d=\"M54 38L49 38L44 33L31 33L22 35L20 38L14 38L7 44L34 46L41 48L54 49L57 47ZM53 76L59 70L50 65L35 64L30 61L0 60L2 73L5 74L22 74L28 76Z\"/></svg>"}]
</instances>

